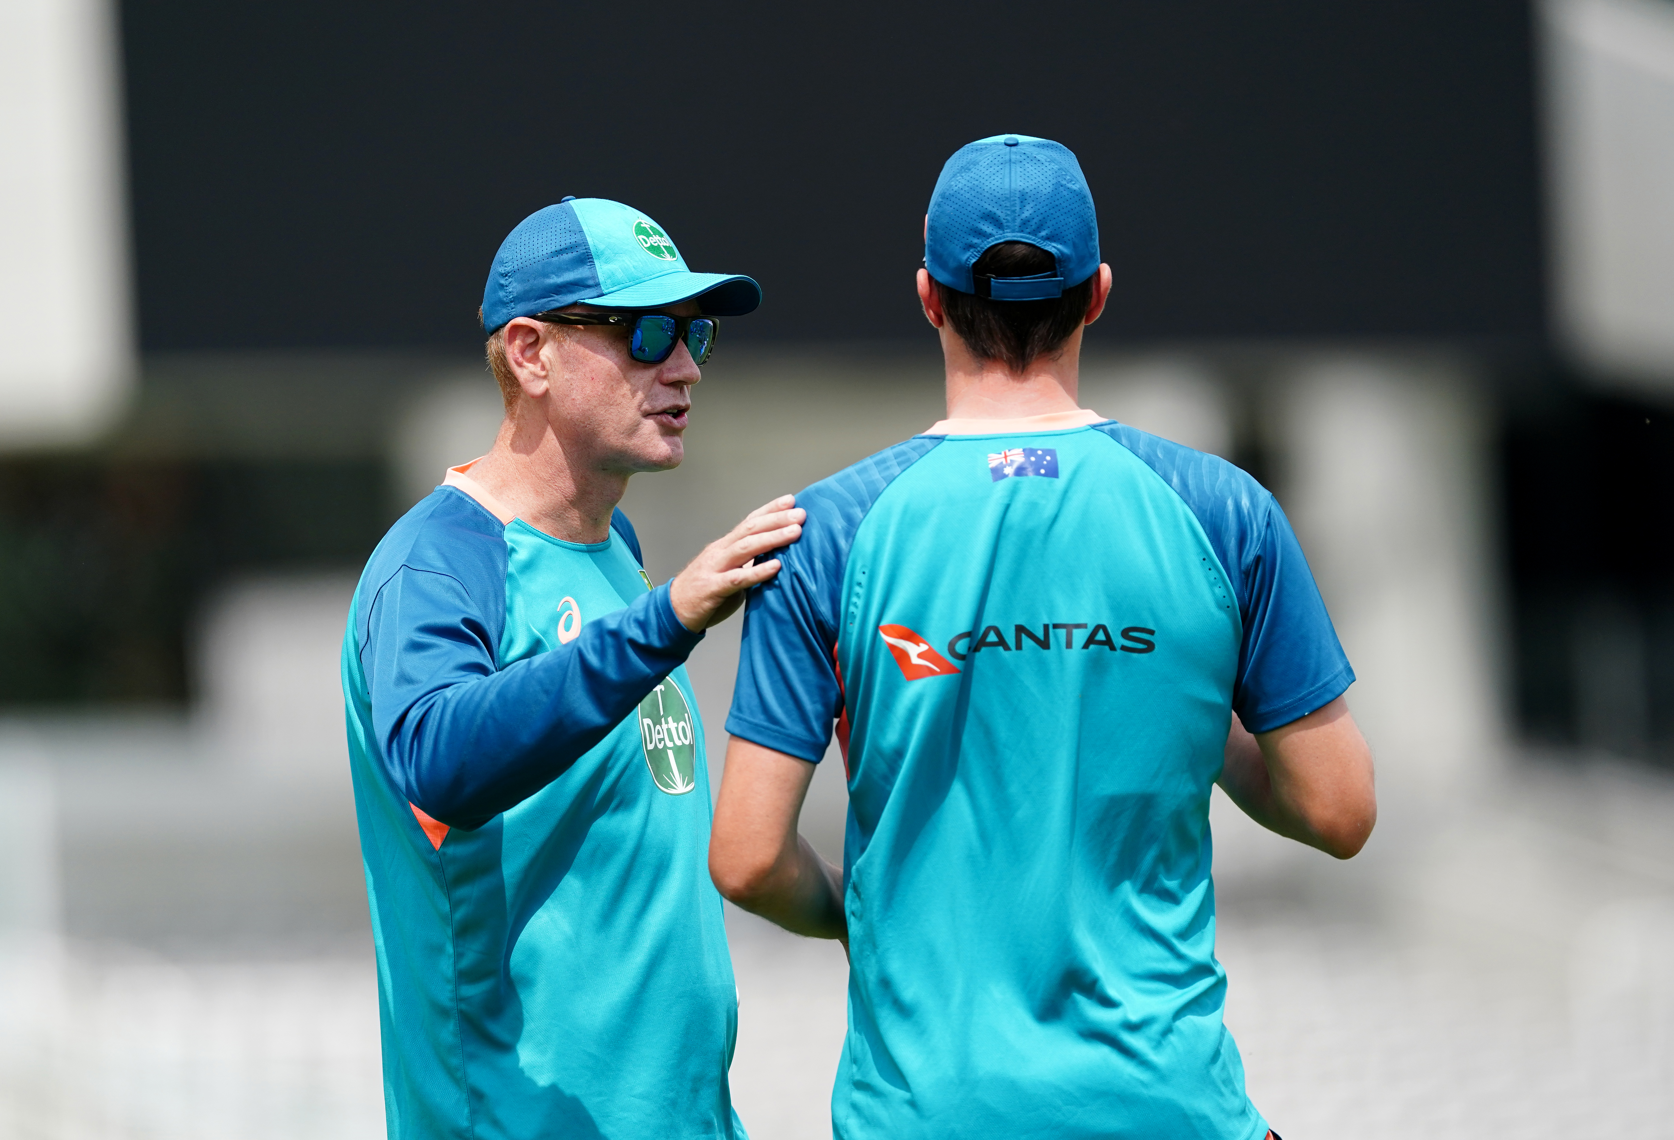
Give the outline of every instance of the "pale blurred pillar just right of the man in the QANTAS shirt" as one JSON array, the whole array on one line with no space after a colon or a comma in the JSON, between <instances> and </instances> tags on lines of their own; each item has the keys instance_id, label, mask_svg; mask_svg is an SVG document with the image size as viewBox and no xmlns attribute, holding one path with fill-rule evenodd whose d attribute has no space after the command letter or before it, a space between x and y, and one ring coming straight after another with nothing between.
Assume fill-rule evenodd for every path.
<instances>
[{"instance_id":1,"label":"pale blurred pillar just right of the man in the QANTAS shirt","mask_svg":"<svg viewBox=\"0 0 1674 1140\"><path fill-rule=\"evenodd\" d=\"M1386 793L1458 792L1505 750L1488 430L1473 377L1446 360L1301 362L1267 403L1279 497Z\"/></svg>"}]
</instances>

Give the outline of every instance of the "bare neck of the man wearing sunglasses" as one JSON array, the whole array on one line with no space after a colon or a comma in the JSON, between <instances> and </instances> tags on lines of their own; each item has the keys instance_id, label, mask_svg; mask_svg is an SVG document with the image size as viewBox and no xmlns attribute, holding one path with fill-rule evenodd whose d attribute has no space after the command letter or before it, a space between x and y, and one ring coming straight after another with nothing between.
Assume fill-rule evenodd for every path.
<instances>
[{"instance_id":1,"label":"bare neck of the man wearing sunglasses","mask_svg":"<svg viewBox=\"0 0 1674 1140\"><path fill-rule=\"evenodd\" d=\"M593 470L539 417L507 417L470 479L512 517L566 542L603 542L628 472Z\"/></svg>"}]
</instances>

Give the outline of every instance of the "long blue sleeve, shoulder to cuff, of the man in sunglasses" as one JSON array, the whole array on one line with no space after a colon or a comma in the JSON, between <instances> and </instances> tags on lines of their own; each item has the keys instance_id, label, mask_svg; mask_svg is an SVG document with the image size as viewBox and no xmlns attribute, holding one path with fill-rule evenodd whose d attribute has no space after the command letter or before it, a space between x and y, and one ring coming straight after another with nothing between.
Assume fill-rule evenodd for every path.
<instances>
[{"instance_id":1,"label":"long blue sleeve, shoulder to cuff, of the man in sunglasses","mask_svg":"<svg viewBox=\"0 0 1674 1140\"><path fill-rule=\"evenodd\" d=\"M390 780L432 819L469 829L562 775L703 634L680 624L665 584L497 670L504 562L496 574L484 542L450 554L447 567L393 567L362 616L360 655Z\"/></svg>"}]
</instances>

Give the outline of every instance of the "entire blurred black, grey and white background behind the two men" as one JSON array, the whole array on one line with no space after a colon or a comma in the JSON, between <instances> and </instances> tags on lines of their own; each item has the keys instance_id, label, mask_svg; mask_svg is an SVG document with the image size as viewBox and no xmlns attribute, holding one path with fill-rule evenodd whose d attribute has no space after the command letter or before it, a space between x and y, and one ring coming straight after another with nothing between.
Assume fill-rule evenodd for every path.
<instances>
[{"instance_id":1,"label":"entire blurred black, grey and white background behind the two men","mask_svg":"<svg viewBox=\"0 0 1674 1140\"><path fill-rule=\"evenodd\" d=\"M1008 131L1098 201L1083 405L1272 487L1359 673L1361 857L1217 799L1252 1098L1674 1135L1669 0L0 0L0 1135L380 1135L336 651L494 435L511 226L616 198L765 288L623 504L666 579L941 417L922 213ZM842 954L728 921L740 1112L829 1135Z\"/></svg>"}]
</instances>

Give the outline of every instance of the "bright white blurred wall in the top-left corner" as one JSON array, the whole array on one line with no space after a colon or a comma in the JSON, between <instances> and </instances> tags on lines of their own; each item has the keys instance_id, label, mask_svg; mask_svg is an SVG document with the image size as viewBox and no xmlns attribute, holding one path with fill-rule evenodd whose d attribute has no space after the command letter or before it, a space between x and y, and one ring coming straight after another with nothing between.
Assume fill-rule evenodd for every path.
<instances>
[{"instance_id":1,"label":"bright white blurred wall in the top-left corner","mask_svg":"<svg viewBox=\"0 0 1674 1140\"><path fill-rule=\"evenodd\" d=\"M0 447L87 440L132 387L117 57L107 0L0 3Z\"/></svg>"}]
</instances>

